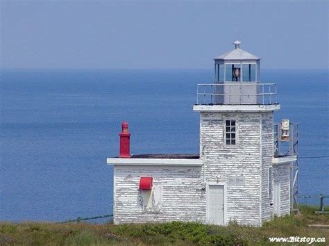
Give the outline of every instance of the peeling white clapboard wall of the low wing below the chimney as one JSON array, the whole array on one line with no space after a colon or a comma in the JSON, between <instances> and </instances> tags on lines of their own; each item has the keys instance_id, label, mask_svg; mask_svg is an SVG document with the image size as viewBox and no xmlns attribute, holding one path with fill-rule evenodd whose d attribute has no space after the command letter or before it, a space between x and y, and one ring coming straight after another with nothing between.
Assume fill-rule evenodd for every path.
<instances>
[{"instance_id":1,"label":"peeling white clapboard wall of the low wing below the chimney","mask_svg":"<svg viewBox=\"0 0 329 246\"><path fill-rule=\"evenodd\" d=\"M172 220L205 222L201 167L115 165L114 173L115 224ZM162 186L160 211L144 209L140 177L153 177L153 183Z\"/></svg>"}]
</instances>

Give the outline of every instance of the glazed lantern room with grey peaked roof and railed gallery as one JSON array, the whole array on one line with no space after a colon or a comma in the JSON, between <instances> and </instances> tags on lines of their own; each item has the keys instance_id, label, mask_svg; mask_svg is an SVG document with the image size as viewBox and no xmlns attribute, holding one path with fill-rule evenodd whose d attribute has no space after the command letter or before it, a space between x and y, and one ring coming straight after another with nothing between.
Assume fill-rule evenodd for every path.
<instances>
[{"instance_id":1,"label":"glazed lantern room with grey peaked roof and railed gallery","mask_svg":"<svg viewBox=\"0 0 329 246\"><path fill-rule=\"evenodd\" d=\"M235 49L214 58L214 84L201 85L203 99L210 95L203 104L273 104L276 85L260 83L260 58L240 49L241 42L233 44Z\"/></svg>"}]
</instances>

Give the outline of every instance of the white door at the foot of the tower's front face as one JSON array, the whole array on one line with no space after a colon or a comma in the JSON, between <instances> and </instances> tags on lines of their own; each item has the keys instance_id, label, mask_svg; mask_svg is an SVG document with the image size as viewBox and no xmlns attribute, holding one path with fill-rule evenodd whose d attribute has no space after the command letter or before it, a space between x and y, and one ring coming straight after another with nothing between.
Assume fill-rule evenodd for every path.
<instances>
[{"instance_id":1,"label":"white door at the foot of the tower's front face","mask_svg":"<svg viewBox=\"0 0 329 246\"><path fill-rule=\"evenodd\" d=\"M224 187L210 185L208 190L208 222L224 224Z\"/></svg>"}]
</instances>

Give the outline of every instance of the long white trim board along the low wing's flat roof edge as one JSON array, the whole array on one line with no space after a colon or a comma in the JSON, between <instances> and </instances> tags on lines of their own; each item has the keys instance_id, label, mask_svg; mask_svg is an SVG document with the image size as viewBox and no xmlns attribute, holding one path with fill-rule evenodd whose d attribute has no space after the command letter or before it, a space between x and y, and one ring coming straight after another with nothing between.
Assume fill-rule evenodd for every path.
<instances>
[{"instance_id":1,"label":"long white trim board along the low wing's flat roof edge","mask_svg":"<svg viewBox=\"0 0 329 246\"><path fill-rule=\"evenodd\" d=\"M203 165L202 159L167 159L167 158L107 158L108 165L172 165L197 166Z\"/></svg>"}]
</instances>

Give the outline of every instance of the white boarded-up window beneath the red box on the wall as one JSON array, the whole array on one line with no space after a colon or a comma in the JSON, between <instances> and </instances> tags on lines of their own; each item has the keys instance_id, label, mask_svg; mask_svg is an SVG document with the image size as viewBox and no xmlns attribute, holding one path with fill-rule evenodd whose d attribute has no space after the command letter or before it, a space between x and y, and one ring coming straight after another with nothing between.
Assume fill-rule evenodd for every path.
<instances>
[{"instance_id":1,"label":"white boarded-up window beneath the red box on the wall","mask_svg":"<svg viewBox=\"0 0 329 246\"><path fill-rule=\"evenodd\" d=\"M162 183L153 182L151 190L142 190L142 211L160 213L162 211Z\"/></svg>"}]
</instances>

